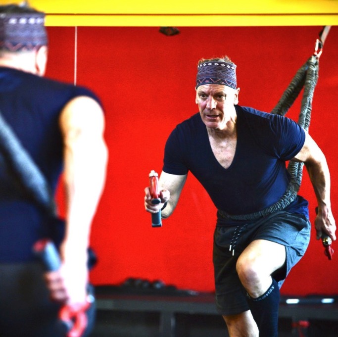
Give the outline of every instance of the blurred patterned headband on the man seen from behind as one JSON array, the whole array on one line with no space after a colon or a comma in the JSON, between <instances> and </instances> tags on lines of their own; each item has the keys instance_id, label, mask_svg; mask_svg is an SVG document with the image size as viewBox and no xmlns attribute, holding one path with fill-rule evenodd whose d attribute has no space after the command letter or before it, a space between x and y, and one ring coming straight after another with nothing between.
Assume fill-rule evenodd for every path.
<instances>
[{"instance_id":1,"label":"blurred patterned headband on the man seen from behind","mask_svg":"<svg viewBox=\"0 0 338 337\"><path fill-rule=\"evenodd\" d=\"M0 49L25 51L47 44L45 13L0 13Z\"/></svg>"}]
</instances>

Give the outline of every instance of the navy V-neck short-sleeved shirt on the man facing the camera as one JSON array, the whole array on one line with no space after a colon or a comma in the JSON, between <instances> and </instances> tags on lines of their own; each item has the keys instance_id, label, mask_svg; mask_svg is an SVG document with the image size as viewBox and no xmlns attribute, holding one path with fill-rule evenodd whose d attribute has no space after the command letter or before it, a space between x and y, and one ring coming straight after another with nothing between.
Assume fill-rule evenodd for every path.
<instances>
[{"instance_id":1,"label":"navy V-neck short-sleeved shirt on the man facing the camera","mask_svg":"<svg viewBox=\"0 0 338 337\"><path fill-rule=\"evenodd\" d=\"M305 132L289 118L239 105L235 108L238 139L229 168L214 156L197 113L169 136L163 171L175 175L191 171L217 209L241 215L260 211L280 199L290 181L286 161L302 148ZM307 201L298 196L286 210L307 215Z\"/></svg>"}]
</instances>

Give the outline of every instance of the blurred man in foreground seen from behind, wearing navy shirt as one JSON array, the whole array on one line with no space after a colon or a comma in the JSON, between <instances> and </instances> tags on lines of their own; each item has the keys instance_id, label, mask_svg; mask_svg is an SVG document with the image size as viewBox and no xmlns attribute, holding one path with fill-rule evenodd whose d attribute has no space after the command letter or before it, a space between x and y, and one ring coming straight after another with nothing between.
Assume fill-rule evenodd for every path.
<instances>
[{"instance_id":1,"label":"blurred man in foreground seen from behind, wearing navy shirt","mask_svg":"<svg viewBox=\"0 0 338 337\"><path fill-rule=\"evenodd\" d=\"M90 229L105 179L102 107L86 88L43 77L44 17L28 6L0 6L0 113L52 195L63 170L65 228L57 230L61 221L27 193L0 152L1 337L64 336L60 306L86 303ZM44 275L33 245L46 237L59 244L61 267Z\"/></svg>"}]
</instances>

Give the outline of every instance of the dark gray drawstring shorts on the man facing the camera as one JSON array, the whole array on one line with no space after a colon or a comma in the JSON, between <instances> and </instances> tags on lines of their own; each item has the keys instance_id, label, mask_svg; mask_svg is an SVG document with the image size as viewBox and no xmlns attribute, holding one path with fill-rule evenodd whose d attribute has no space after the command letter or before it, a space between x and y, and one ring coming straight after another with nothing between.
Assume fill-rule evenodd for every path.
<instances>
[{"instance_id":1,"label":"dark gray drawstring shorts on the man facing the camera","mask_svg":"<svg viewBox=\"0 0 338 337\"><path fill-rule=\"evenodd\" d=\"M246 291L236 272L236 262L250 242L263 239L285 246L286 264L272 275L281 288L291 268L305 253L310 241L310 227L305 215L285 211L255 221L241 221L238 226L217 226L213 264L218 312L235 315L249 310Z\"/></svg>"}]
</instances>

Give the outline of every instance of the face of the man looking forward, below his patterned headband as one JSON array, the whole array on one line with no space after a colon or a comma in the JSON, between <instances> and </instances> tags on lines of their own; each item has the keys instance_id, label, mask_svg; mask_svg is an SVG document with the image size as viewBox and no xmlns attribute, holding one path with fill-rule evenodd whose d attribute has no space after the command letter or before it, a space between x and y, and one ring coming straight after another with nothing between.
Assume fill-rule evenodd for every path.
<instances>
[{"instance_id":1,"label":"face of the man looking forward, below his patterned headband","mask_svg":"<svg viewBox=\"0 0 338 337\"><path fill-rule=\"evenodd\" d=\"M225 128L238 104L240 88L221 84L206 84L196 90L196 104L203 123L211 129Z\"/></svg>"}]
</instances>

